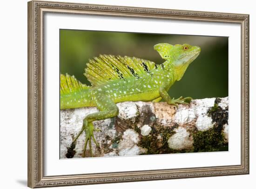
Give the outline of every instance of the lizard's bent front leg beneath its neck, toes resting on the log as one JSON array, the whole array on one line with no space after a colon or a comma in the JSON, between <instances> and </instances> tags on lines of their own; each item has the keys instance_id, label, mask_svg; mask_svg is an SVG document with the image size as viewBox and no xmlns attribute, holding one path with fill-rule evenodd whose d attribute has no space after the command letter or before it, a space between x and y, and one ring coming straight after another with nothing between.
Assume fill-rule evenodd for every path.
<instances>
[{"instance_id":1,"label":"lizard's bent front leg beneath its neck, toes resting on the log","mask_svg":"<svg viewBox=\"0 0 256 189\"><path fill-rule=\"evenodd\" d=\"M159 94L168 104L174 105L177 108L179 108L178 104L189 104L189 102L192 100L191 97L183 98L182 96L178 99L171 98L167 93L167 90L168 83L163 83L159 88Z\"/></svg>"}]
</instances>

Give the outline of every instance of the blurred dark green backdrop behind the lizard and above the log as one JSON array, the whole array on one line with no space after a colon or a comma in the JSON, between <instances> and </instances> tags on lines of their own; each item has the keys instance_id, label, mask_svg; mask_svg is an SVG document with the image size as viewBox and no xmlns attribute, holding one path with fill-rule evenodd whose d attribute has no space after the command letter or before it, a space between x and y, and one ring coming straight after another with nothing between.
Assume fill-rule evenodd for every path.
<instances>
[{"instance_id":1,"label":"blurred dark green backdrop behind the lizard and above the log","mask_svg":"<svg viewBox=\"0 0 256 189\"><path fill-rule=\"evenodd\" d=\"M228 96L228 37L147 34L109 31L60 30L60 71L90 85L84 69L99 54L139 57L163 63L153 46L158 43L190 44L201 54L189 65L182 80L169 90L171 97L194 99Z\"/></svg>"}]
</instances>

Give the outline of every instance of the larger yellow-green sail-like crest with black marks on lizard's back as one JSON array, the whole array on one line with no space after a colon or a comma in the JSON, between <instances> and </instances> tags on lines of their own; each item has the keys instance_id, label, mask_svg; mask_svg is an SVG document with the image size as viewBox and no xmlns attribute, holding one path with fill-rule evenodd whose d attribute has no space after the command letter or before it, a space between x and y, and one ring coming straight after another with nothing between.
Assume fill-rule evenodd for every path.
<instances>
[{"instance_id":1,"label":"larger yellow-green sail-like crest with black marks on lizard's back","mask_svg":"<svg viewBox=\"0 0 256 189\"><path fill-rule=\"evenodd\" d=\"M84 75L93 86L109 81L139 78L155 68L155 63L136 57L100 55L89 60Z\"/></svg>"}]
</instances>

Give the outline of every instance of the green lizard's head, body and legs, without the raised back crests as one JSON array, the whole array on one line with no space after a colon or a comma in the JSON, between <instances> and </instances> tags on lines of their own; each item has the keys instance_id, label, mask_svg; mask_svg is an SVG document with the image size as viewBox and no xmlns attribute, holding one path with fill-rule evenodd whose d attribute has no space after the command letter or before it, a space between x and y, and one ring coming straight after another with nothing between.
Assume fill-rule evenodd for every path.
<instances>
[{"instance_id":1,"label":"green lizard's head, body and legs, without the raised back crests","mask_svg":"<svg viewBox=\"0 0 256 189\"><path fill-rule=\"evenodd\" d=\"M61 94L61 109L77 107L97 107L100 112L91 113L83 120L81 131L77 134L73 142L81 135L86 133L86 140L83 149L83 157L89 142L90 155L93 157L91 139L98 145L94 139L93 121L103 120L115 117L118 114L116 103L122 101L154 101L162 99L170 105L178 108L178 104L188 104L191 97L171 98L168 95L168 89L179 81L189 64L200 54L200 47L189 44L156 44L154 49L159 52L165 62L155 65L155 68L148 70L145 66L145 73L139 77L129 76L124 79L115 79L100 84L93 85L81 90L70 91ZM120 74L118 72L118 74ZM73 76L73 79L74 76ZM80 83L81 84L81 83ZM81 84L82 85L82 84Z\"/></svg>"}]
</instances>

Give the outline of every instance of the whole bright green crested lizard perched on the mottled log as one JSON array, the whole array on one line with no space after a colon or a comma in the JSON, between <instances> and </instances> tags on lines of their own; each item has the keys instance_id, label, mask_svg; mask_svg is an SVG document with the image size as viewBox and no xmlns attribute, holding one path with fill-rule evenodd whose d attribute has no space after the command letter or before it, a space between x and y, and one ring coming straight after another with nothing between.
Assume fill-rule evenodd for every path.
<instances>
[{"instance_id":1,"label":"whole bright green crested lizard perched on the mottled log","mask_svg":"<svg viewBox=\"0 0 256 189\"><path fill-rule=\"evenodd\" d=\"M61 74L61 109L77 107L97 107L100 112L85 116L81 131L76 135L73 143L83 131L86 133L83 157L89 142L90 155L92 153L95 129L93 121L115 117L118 114L117 102L122 101L154 101L162 99L178 108L178 104L188 104L191 97L171 98L167 91L179 81L189 64L199 55L201 49L189 44L156 44L165 62L157 65L151 61L136 57L121 57L100 55L89 60L84 75L92 86L82 84L74 76Z\"/></svg>"}]
</instances>

